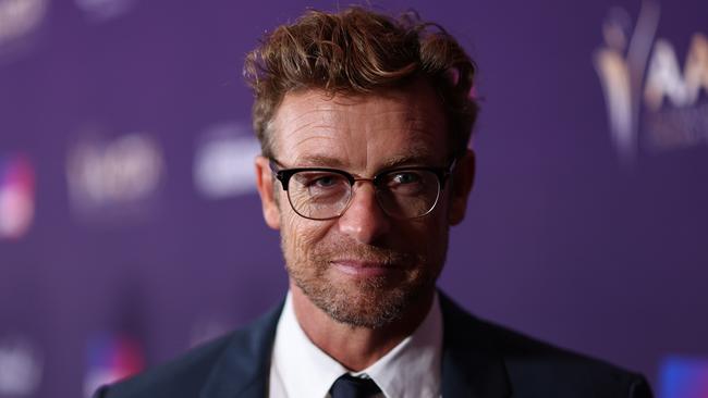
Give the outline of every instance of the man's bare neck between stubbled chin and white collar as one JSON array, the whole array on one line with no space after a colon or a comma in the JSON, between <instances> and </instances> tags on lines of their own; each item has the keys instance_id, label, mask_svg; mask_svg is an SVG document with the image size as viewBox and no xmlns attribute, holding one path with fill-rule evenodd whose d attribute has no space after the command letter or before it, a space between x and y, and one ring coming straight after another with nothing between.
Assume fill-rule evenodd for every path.
<instances>
[{"instance_id":1,"label":"man's bare neck between stubbled chin and white collar","mask_svg":"<svg viewBox=\"0 0 708 398\"><path fill-rule=\"evenodd\" d=\"M412 335L428 314L435 291L431 290L408 306L406 312L390 325L368 328L343 324L315 306L291 282L295 318L307 337L319 349L350 371L362 371Z\"/></svg>"}]
</instances>

